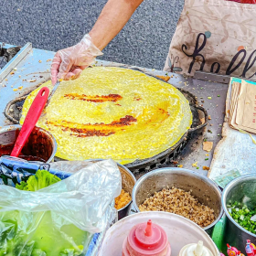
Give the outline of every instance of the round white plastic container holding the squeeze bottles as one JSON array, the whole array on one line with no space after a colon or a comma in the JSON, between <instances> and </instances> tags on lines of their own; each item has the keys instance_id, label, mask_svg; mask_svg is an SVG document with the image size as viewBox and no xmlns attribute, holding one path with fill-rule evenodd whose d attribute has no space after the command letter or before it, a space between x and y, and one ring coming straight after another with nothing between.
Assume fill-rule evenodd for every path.
<instances>
[{"instance_id":1,"label":"round white plastic container holding the squeeze bottles","mask_svg":"<svg viewBox=\"0 0 256 256\"><path fill-rule=\"evenodd\" d=\"M204 242L204 246L212 252L213 256L219 256L218 248L204 229L201 229L189 219L160 211L140 212L115 223L106 233L99 256L122 255L123 240L127 238L130 229L136 224L146 222L148 219L165 229L171 244L172 256L178 255L187 244L197 243L198 240Z\"/></svg>"}]
</instances>

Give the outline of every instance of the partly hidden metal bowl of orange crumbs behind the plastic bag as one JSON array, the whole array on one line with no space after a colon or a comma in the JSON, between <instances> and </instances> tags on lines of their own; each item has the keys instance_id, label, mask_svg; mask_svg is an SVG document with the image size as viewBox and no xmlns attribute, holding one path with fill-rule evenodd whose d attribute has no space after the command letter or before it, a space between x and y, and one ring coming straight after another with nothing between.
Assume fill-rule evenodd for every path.
<instances>
[{"instance_id":1,"label":"partly hidden metal bowl of orange crumbs behind the plastic bag","mask_svg":"<svg viewBox=\"0 0 256 256\"><path fill-rule=\"evenodd\" d=\"M103 159L91 159L86 160L88 162L98 162L102 161ZM133 173L129 171L125 166L118 164L118 168L120 170L121 176L122 176L122 188L125 192L129 192L130 195L133 194L133 187L136 183L136 178L133 176ZM118 210L118 219L123 219L128 215L130 205L132 203L132 200L123 208Z\"/></svg>"}]
</instances>

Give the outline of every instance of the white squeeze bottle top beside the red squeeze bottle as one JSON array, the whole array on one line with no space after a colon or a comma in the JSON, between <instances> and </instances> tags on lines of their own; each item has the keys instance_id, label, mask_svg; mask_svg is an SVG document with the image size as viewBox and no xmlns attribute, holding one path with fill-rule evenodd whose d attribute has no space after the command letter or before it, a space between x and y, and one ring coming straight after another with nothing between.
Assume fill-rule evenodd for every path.
<instances>
[{"instance_id":1,"label":"white squeeze bottle top beside the red squeeze bottle","mask_svg":"<svg viewBox=\"0 0 256 256\"><path fill-rule=\"evenodd\" d=\"M199 240L198 243L190 243L184 246L179 251L178 256L213 256L213 254L204 246L203 241Z\"/></svg>"}]
</instances>

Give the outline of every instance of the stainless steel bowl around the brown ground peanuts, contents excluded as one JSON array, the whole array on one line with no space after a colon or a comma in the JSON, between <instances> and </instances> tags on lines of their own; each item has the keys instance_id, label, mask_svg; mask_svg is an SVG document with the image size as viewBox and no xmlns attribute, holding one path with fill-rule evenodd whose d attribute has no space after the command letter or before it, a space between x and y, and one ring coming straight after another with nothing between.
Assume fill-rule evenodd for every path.
<instances>
[{"instance_id":1,"label":"stainless steel bowl around the brown ground peanuts, contents excluded","mask_svg":"<svg viewBox=\"0 0 256 256\"><path fill-rule=\"evenodd\" d=\"M197 197L200 203L213 208L215 221L204 228L211 236L216 223L223 215L221 191L208 177L183 168L161 168L142 176L133 187L133 205L137 211L147 197L165 187L177 187Z\"/></svg>"}]
</instances>

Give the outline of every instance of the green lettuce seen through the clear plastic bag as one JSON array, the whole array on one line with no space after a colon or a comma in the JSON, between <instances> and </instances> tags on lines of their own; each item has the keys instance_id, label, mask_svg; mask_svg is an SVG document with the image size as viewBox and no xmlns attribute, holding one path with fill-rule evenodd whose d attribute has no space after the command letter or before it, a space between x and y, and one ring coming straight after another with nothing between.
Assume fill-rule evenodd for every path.
<instances>
[{"instance_id":1,"label":"green lettuce seen through the clear plastic bag","mask_svg":"<svg viewBox=\"0 0 256 256\"><path fill-rule=\"evenodd\" d=\"M50 211L0 211L0 256L84 255L92 235Z\"/></svg>"}]
</instances>

